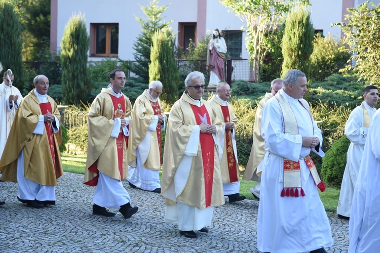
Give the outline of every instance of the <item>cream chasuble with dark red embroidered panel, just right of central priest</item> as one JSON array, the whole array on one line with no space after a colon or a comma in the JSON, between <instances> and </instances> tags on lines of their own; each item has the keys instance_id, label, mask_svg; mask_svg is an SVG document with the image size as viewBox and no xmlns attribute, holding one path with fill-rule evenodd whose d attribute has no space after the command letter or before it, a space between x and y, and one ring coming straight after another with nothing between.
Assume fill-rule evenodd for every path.
<instances>
[{"instance_id":1,"label":"cream chasuble with dark red embroidered panel, just right of central priest","mask_svg":"<svg viewBox=\"0 0 380 253\"><path fill-rule=\"evenodd\" d=\"M226 106L214 95L208 101L222 122L238 122L238 118L232 110L232 105L227 102ZM239 181L240 170L236 154L236 142L233 139L232 131L224 132L223 155L220 160L220 170L222 173L223 184L229 184ZM235 147L234 147L235 146Z\"/></svg>"}]
</instances>

